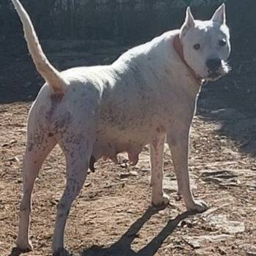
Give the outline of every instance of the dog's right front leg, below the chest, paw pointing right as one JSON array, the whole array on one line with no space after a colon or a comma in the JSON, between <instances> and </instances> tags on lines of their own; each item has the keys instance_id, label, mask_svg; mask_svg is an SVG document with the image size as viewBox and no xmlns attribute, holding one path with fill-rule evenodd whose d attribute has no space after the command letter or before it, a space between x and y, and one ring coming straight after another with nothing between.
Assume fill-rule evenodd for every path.
<instances>
[{"instance_id":1,"label":"dog's right front leg, below the chest, paw pointing right","mask_svg":"<svg viewBox=\"0 0 256 256\"><path fill-rule=\"evenodd\" d=\"M173 157L173 165L178 182L178 193L184 198L188 211L206 211L208 206L202 200L195 201L189 184L188 152L189 126L183 129L177 127L167 135L167 143Z\"/></svg>"}]
</instances>

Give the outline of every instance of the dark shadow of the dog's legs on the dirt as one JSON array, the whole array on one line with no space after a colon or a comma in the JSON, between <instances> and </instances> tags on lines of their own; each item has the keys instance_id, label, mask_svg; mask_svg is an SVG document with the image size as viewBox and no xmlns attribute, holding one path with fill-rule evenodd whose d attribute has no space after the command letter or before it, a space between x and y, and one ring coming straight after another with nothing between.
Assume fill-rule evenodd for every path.
<instances>
[{"instance_id":1,"label":"dark shadow of the dog's legs on the dirt","mask_svg":"<svg viewBox=\"0 0 256 256\"><path fill-rule=\"evenodd\" d=\"M105 248L102 246L91 246L89 249L84 249L80 256L153 256L157 253L158 249L169 236L173 230L178 226L181 220L194 215L195 213L186 211L183 214L179 214L175 219L170 219L167 225L160 231L160 233L153 238L149 244L147 244L139 252L135 252L131 248L132 241L138 237L139 230L143 225L159 211L157 208L148 208L140 219L134 222L126 233L116 241L112 246Z\"/></svg>"}]
</instances>

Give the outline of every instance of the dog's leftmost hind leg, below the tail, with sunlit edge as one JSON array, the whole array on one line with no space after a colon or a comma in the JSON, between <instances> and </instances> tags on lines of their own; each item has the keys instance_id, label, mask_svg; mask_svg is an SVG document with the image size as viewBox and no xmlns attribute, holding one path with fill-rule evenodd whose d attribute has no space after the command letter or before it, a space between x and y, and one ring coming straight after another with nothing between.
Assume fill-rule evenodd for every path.
<instances>
[{"instance_id":1,"label":"dog's leftmost hind leg, below the tail, with sunlit edge","mask_svg":"<svg viewBox=\"0 0 256 256\"><path fill-rule=\"evenodd\" d=\"M29 122L28 141L23 158L23 198L20 203L19 230L16 241L20 252L29 252L32 249L29 241L31 193L39 169L55 145L56 140L48 132L40 129L39 125Z\"/></svg>"}]
</instances>

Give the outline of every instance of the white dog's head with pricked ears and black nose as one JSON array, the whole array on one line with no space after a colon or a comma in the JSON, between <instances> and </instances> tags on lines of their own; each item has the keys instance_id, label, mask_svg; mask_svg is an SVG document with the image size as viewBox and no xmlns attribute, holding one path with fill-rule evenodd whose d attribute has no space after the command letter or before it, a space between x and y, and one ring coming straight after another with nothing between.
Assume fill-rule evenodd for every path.
<instances>
[{"instance_id":1,"label":"white dog's head with pricked ears and black nose","mask_svg":"<svg viewBox=\"0 0 256 256\"><path fill-rule=\"evenodd\" d=\"M180 34L184 59L195 74L203 80L217 80L230 71L230 33L226 25L225 4L211 20L195 20L190 8Z\"/></svg>"}]
</instances>

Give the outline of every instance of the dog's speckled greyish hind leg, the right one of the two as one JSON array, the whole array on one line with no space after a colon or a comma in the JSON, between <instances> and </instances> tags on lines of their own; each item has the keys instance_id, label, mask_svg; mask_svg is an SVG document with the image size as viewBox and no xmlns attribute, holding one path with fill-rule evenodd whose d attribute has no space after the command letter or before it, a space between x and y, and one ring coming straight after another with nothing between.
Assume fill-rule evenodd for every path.
<instances>
[{"instance_id":1,"label":"dog's speckled greyish hind leg, the right one of the two","mask_svg":"<svg viewBox=\"0 0 256 256\"><path fill-rule=\"evenodd\" d=\"M67 182L64 193L57 207L56 224L53 235L53 255L65 255L64 251L64 229L69 214L69 209L75 197L83 187L86 180L87 170L93 141L88 134L78 133L65 136L64 143L59 143L64 151L67 163ZM74 139L72 139L74 138Z\"/></svg>"}]
</instances>

